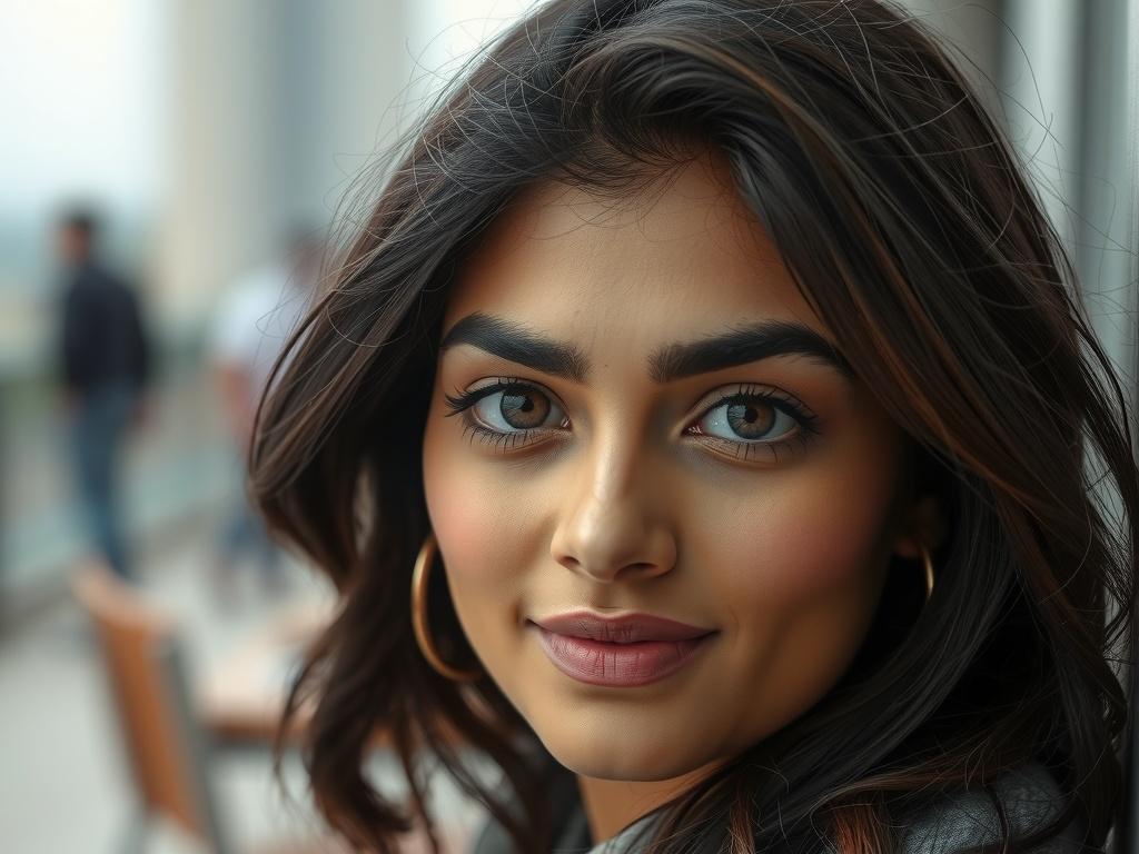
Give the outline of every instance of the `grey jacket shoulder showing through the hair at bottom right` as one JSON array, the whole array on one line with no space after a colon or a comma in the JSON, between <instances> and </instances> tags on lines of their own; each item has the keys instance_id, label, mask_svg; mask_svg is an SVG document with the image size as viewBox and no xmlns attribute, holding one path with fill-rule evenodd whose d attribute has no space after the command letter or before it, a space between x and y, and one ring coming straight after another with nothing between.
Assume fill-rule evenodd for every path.
<instances>
[{"instance_id":1,"label":"grey jacket shoulder showing through the hair at bottom right","mask_svg":"<svg viewBox=\"0 0 1139 854\"><path fill-rule=\"evenodd\" d=\"M1008 819L1009 831L1023 836L1052 821L1064 808L1064 794L1042 764L1025 764L993 781L993 790ZM1001 839L1001 816L982 790L947 795L899 828L902 854L951 854ZM1064 832L1040 843L1033 854L1077 854L1083 828L1073 822Z\"/></svg>"}]
</instances>

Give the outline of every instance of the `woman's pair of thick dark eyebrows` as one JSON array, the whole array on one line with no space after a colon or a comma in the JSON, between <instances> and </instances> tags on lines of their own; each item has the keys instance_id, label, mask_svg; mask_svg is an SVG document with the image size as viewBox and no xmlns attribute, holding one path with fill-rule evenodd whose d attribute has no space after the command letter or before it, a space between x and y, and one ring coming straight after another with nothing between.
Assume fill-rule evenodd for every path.
<instances>
[{"instance_id":1,"label":"woman's pair of thick dark eyebrows","mask_svg":"<svg viewBox=\"0 0 1139 854\"><path fill-rule=\"evenodd\" d=\"M468 314L448 331L440 353L469 344L543 373L584 383L589 359L575 345L548 338L506 318ZM789 320L763 320L694 342L666 344L648 358L648 375L664 385L699 373L749 364L776 355L804 355L853 380L850 362L813 329Z\"/></svg>"}]
</instances>

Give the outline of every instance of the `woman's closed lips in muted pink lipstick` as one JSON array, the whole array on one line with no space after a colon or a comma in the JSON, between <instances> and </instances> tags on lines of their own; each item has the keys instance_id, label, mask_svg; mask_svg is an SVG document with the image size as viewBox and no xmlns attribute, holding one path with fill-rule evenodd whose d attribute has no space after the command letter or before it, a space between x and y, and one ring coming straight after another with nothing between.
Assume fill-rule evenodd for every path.
<instances>
[{"instance_id":1,"label":"woman's closed lips in muted pink lipstick","mask_svg":"<svg viewBox=\"0 0 1139 854\"><path fill-rule=\"evenodd\" d=\"M634 688L670 676L715 634L650 614L603 617L573 611L531 622L555 667L580 682L608 688Z\"/></svg>"}]
</instances>

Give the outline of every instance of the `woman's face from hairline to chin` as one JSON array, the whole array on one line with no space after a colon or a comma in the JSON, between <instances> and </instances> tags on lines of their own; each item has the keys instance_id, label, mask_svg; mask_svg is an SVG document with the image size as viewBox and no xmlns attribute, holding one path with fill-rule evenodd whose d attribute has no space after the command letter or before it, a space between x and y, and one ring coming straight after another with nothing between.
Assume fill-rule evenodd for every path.
<instances>
[{"instance_id":1,"label":"woman's face from hairline to chin","mask_svg":"<svg viewBox=\"0 0 1139 854\"><path fill-rule=\"evenodd\" d=\"M727 180L534 188L443 322L423 462L450 593L587 777L677 778L804 713L902 543L903 434Z\"/></svg>"}]
</instances>

